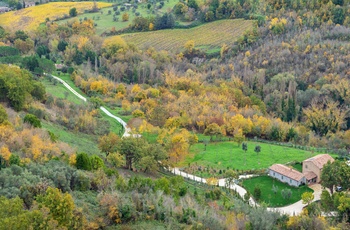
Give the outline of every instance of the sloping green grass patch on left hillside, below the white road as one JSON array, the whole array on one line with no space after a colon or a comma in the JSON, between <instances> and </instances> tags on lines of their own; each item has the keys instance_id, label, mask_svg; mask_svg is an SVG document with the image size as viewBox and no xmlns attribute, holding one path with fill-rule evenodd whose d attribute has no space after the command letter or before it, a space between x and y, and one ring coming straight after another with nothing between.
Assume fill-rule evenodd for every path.
<instances>
[{"instance_id":1,"label":"sloping green grass patch on left hillside, below the white road","mask_svg":"<svg viewBox=\"0 0 350 230\"><path fill-rule=\"evenodd\" d=\"M97 136L88 135L80 132L72 132L67 128L42 121L42 126L58 136L58 140L65 142L76 148L77 152L85 152L87 154L100 154L98 149Z\"/></svg>"}]
</instances>

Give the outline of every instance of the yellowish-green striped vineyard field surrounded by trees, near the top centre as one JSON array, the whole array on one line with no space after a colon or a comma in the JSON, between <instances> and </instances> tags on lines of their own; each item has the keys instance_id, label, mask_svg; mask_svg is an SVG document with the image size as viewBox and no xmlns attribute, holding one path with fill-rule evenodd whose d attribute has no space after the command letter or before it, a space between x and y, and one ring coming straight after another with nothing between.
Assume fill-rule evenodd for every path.
<instances>
[{"instance_id":1,"label":"yellowish-green striped vineyard field surrounded by trees, near the top centre","mask_svg":"<svg viewBox=\"0 0 350 230\"><path fill-rule=\"evenodd\" d=\"M252 20L221 20L207 23L191 29L170 29L153 32L122 35L128 43L139 48L154 47L157 50L177 51L189 40L194 40L196 47L213 49L222 44L231 45L239 36L253 26Z\"/></svg>"}]
</instances>

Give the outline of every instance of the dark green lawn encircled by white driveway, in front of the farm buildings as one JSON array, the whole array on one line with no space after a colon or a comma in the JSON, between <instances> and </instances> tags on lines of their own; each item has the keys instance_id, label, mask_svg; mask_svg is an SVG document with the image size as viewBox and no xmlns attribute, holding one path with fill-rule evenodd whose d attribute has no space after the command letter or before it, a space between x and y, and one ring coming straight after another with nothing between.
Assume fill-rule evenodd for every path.
<instances>
[{"instance_id":1,"label":"dark green lawn encircled by white driveway, in front of the farm buildings","mask_svg":"<svg viewBox=\"0 0 350 230\"><path fill-rule=\"evenodd\" d=\"M261 201L265 202L269 207L283 207L289 204L293 204L301 200L301 194L304 192L313 192L307 186L301 186L299 188L289 186L269 176L259 176L243 181L243 187L249 191L250 194L254 194L255 186L259 185L261 189ZM278 191L276 194L272 191L272 185L277 186ZM286 200L282 197L281 191L283 189L292 190L292 196Z\"/></svg>"}]
</instances>

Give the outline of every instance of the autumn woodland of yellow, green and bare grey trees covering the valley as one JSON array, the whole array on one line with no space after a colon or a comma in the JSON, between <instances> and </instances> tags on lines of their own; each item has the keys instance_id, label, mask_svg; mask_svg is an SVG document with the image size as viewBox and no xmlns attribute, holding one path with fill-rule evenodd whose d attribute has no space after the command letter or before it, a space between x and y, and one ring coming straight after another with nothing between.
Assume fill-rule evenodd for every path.
<instances>
[{"instance_id":1,"label":"autumn woodland of yellow, green and bare grey trees covering the valley","mask_svg":"<svg viewBox=\"0 0 350 230\"><path fill-rule=\"evenodd\" d=\"M119 36L237 18L254 27L215 53ZM348 229L348 193L288 216L164 169L206 146L203 136L349 157L349 41L349 0L181 0L103 36L91 19L17 31L0 22L0 229ZM68 76L89 102L58 96L49 74ZM142 137L122 138L102 105ZM349 189L350 167L337 164L327 167Z\"/></svg>"}]
</instances>

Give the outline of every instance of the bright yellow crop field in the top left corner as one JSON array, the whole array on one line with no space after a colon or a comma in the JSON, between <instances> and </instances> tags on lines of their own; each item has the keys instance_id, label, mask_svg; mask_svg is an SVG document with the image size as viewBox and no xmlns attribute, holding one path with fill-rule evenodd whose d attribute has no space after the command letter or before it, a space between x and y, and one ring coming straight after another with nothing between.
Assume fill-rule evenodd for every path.
<instances>
[{"instance_id":1,"label":"bright yellow crop field in the top left corner","mask_svg":"<svg viewBox=\"0 0 350 230\"><path fill-rule=\"evenodd\" d=\"M111 3L98 2L99 8L111 6ZM76 8L78 14L84 10L92 9L93 2L52 2L38 6L28 7L18 11L0 14L0 26L13 30L34 30L46 18L56 20L69 15L71 8Z\"/></svg>"}]
</instances>

